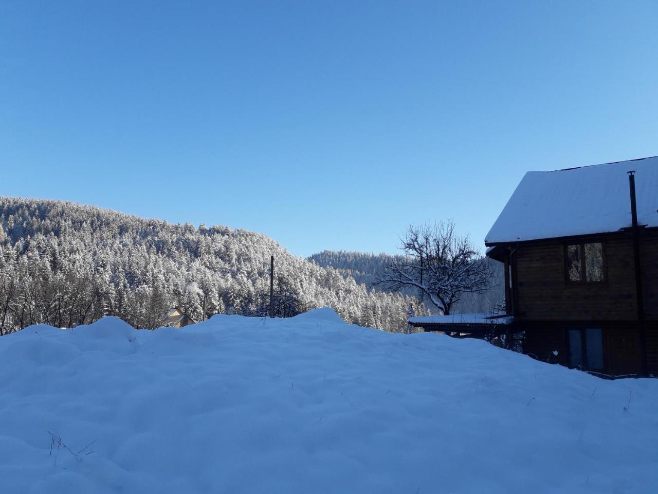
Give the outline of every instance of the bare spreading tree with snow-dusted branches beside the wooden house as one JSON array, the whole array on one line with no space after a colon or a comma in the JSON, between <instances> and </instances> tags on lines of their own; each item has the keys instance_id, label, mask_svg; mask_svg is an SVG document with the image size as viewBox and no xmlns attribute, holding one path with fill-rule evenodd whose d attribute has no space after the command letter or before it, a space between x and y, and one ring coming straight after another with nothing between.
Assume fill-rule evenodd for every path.
<instances>
[{"instance_id":1,"label":"bare spreading tree with snow-dusted branches beside the wooden house","mask_svg":"<svg viewBox=\"0 0 658 494\"><path fill-rule=\"evenodd\" d=\"M478 254L468 235L455 233L452 221L410 225L401 238L405 256L386 267L376 285L391 290L415 287L443 314L465 293L482 293L492 276L486 258Z\"/></svg>"}]
</instances>

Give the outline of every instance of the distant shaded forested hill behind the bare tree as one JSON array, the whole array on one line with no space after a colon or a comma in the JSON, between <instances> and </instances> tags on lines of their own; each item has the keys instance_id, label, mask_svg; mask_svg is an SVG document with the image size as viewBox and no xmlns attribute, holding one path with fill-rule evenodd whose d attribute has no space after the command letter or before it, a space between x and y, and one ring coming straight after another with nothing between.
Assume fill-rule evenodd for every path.
<instances>
[{"instance_id":1,"label":"distant shaded forested hill behind the bare tree","mask_svg":"<svg viewBox=\"0 0 658 494\"><path fill-rule=\"evenodd\" d=\"M403 260L403 256L392 256L390 254L369 254L367 252L349 252L345 250L323 250L308 258L322 267L336 269L345 279L353 277L357 283L364 283L367 287L377 280L377 277L386 271L386 266L393 261ZM503 290L503 264L488 260L492 269L490 287L484 293L466 293L455 305L455 314L467 312L488 312L495 310L504 300ZM382 290L375 287L376 290ZM415 296L415 288L407 288L402 293ZM437 308L430 302L426 302L427 309L437 312Z\"/></svg>"}]
</instances>

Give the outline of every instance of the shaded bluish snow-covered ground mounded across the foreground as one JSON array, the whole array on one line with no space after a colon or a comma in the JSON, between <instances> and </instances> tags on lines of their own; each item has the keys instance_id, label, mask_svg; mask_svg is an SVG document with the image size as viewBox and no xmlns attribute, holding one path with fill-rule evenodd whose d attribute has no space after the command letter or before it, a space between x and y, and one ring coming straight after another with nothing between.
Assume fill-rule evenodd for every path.
<instances>
[{"instance_id":1,"label":"shaded bluish snow-covered ground mounded across the foreground","mask_svg":"<svg viewBox=\"0 0 658 494\"><path fill-rule=\"evenodd\" d=\"M658 380L327 309L33 326L0 338L0 370L5 493L658 489Z\"/></svg>"}]
</instances>

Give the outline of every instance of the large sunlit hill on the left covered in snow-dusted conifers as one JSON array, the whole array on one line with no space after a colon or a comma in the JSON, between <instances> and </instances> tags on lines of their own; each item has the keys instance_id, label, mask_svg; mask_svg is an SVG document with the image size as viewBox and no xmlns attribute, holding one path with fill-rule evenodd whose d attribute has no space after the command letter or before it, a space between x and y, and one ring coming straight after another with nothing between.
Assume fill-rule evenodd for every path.
<instances>
[{"instance_id":1,"label":"large sunlit hill on the left covered in snow-dusted conifers","mask_svg":"<svg viewBox=\"0 0 658 494\"><path fill-rule=\"evenodd\" d=\"M292 256L265 235L195 228L62 201L0 197L0 334L34 323L73 327L103 315L162 325L170 307L265 314L270 255L278 316L330 306L348 322L406 328L417 300L368 292L352 277Z\"/></svg>"}]
</instances>

